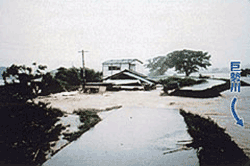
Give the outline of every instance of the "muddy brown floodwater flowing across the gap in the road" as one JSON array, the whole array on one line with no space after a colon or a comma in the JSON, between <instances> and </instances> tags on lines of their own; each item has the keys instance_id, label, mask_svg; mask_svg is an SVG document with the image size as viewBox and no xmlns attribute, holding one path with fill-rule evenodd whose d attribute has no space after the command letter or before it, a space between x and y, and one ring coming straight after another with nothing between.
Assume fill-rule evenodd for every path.
<instances>
[{"instance_id":1,"label":"muddy brown floodwater flowing across the gap in the road","mask_svg":"<svg viewBox=\"0 0 250 166\"><path fill-rule=\"evenodd\" d=\"M162 108L176 109L176 110L183 108L187 111L197 113L202 117L203 116L211 117L216 123L219 124L220 127L225 128L225 132L232 138L232 140L237 144L237 146L243 149L243 152L247 156L250 156L249 153L250 136L249 136L249 123L248 123L249 122L248 119L250 118L248 112L249 108L248 103L250 98L249 95L247 95L249 94L247 93L249 90L250 88L248 87L242 88L242 96L239 97L237 103L237 111L245 119L244 128L240 128L235 125L234 119L232 118L230 112L231 93L228 93L227 91L223 92L221 97L208 98L208 99L160 96L162 91L161 89L157 89L149 92L144 92L144 91L107 92L103 95L99 94L84 95L75 93L71 95L51 96L49 99L44 98L42 100L49 100L51 101L51 105L54 105L65 111L70 111L73 108L80 106L85 108L105 108L105 106L114 107L118 105L121 105L122 108L136 107L141 110L143 110L143 108L147 108L151 109L152 111ZM81 102L81 101L86 101L86 102ZM143 116L143 111L141 112L141 114ZM111 115L112 111L105 116L109 117ZM223 123L221 123L220 121L222 121ZM164 127L164 126L159 126L159 127ZM100 137L99 139L102 139L102 137ZM173 152L175 152L174 149L171 150L169 149L170 152L172 150ZM167 153L168 150L165 152ZM67 153L67 150L65 150L64 153ZM179 153L179 150L177 150L175 153L167 153L166 155L171 154L175 156L175 154L177 153Z\"/></svg>"}]
</instances>

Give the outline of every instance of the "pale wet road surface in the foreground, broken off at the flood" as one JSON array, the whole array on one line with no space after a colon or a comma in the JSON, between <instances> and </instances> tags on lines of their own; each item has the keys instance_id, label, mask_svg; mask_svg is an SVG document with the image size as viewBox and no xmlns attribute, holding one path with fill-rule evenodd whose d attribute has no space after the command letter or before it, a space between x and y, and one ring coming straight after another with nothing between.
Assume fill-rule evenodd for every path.
<instances>
[{"instance_id":1,"label":"pale wet road surface in the foreground, broken off at the flood","mask_svg":"<svg viewBox=\"0 0 250 166\"><path fill-rule=\"evenodd\" d=\"M199 165L193 149L171 153L191 140L178 110L124 107L100 116L103 121L44 165Z\"/></svg>"}]
</instances>

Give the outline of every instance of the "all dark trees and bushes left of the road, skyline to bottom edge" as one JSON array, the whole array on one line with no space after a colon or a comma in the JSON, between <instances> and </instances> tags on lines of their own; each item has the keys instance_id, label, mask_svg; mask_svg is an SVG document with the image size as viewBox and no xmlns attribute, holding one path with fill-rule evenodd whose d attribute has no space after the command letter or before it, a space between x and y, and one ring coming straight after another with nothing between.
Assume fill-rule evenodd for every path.
<instances>
[{"instance_id":1,"label":"all dark trees and bushes left of the road, skyline to bottom edge","mask_svg":"<svg viewBox=\"0 0 250 166\"><path fill-rule=\"evenodd\" d=\"M45 72L46 66L12 65L3 72L5 85L0 86L0 165L41 165L49 151L59 140L66 127L55 125L64 113L47 107L48 104L33 99L79 88L82 70L59 68L53 73ZM99 81L101 73L86 70L88 81ZM83 125L80 132L69 138L73 141L100 121L96 113L78 113ZM51 144L52 143L52 144ZM53 154L52 154L53 155Z\"/></svg>"}]
</instances>

